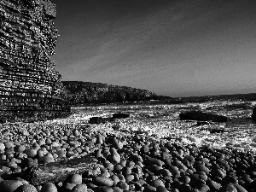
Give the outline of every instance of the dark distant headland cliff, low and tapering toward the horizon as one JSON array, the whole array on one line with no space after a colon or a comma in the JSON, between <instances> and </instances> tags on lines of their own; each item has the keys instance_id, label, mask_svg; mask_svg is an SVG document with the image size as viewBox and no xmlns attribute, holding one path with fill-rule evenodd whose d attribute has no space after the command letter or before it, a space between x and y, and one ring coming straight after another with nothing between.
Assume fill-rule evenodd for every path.
<instances>
[{"instance_id":1,"label":"dark distant headland cliff, low and tapering toward the horizon","mask_svg":"<svg viewBox=\"0 0 256 192\"><path fill-rule=\"evenodd\" d=\"M73 105L108 102L135 102L157 99L153 92L126 86L81 81L63 81L67 100Z\"/></svg>"}]
</instances>

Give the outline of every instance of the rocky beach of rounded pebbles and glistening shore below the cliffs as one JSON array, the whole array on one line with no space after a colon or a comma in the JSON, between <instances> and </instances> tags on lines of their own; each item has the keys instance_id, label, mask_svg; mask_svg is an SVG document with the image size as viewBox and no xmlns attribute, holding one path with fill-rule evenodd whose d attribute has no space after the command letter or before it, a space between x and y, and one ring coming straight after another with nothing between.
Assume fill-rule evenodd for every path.
<instances>
[{"instance_id":1,"label":"rocky beach of rounded pebbles and glistening shore below the cliffs","mask_svg":"<svg viewBox=\"0 0 256 192\"><path fill-rule=\"evenodd\" d=\"M255 124L250 118L254 104L215 101L76 107L66 119L2 124L0 189L255 191ZM192 109L218 113L228 121L180 120L180 113ZM113 119L117 113L129 115ZM107 120L92 124L92 117ZM90 167L57 181L50 176L54 173L48 172L43 182L37 175L27 175L32 169L83 160L84 156L93 159Z\"/></svg>"}]
</instances>

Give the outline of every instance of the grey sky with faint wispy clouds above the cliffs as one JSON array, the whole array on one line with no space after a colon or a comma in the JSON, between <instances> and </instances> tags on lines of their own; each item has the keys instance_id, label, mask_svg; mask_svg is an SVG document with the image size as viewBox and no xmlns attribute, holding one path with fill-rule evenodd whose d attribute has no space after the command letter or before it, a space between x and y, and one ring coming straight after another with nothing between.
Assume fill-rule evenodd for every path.
<instances>
[{"instance_id":1,"label":"grey sky with faint wispy clouds above the cliffs","mask_svg":"<svg viewBox=\"0 0 256 192\"><path fill-rule=\"evenodd\" d=\"M161 96L256 92L255 0L54 0L62 80Z\"/></svg>"}]
</instances>

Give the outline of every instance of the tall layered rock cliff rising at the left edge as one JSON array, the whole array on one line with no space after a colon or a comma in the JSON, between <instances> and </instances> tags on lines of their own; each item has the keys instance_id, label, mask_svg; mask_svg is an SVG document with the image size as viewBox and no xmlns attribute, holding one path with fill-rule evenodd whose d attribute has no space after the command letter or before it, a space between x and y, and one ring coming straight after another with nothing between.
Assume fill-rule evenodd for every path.
<instances>
[{"instance_id":1,"label":"tall layered rock cliff rising at the left edge","mask_svg":"<svg viewBox=\"0 0 256 192\"><path fill-rule=\"evenodd\" d=\"M0 119L65 116L61 74L50 56L58 31L51 0L0 1Z\"/></svg>"}]
</instances>

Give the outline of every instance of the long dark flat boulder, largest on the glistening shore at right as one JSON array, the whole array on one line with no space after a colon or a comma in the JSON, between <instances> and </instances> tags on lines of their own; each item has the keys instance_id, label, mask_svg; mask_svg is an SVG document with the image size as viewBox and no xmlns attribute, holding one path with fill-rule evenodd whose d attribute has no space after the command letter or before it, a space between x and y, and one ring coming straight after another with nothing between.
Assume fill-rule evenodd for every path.
<instances>
[{"instance_id":1,"label":"long dark flat boulder, largest on the glistening shore at right","mask_svg":"<svg viewBox=\"0 0 256 192\"><path fill-rule=\"evenodd\" d=\"M179 114L181 120L199 120L213 122L227 122L228 118L223 115L205 113L201 111L188 111Z\"/></svg>"}]
</instances>

